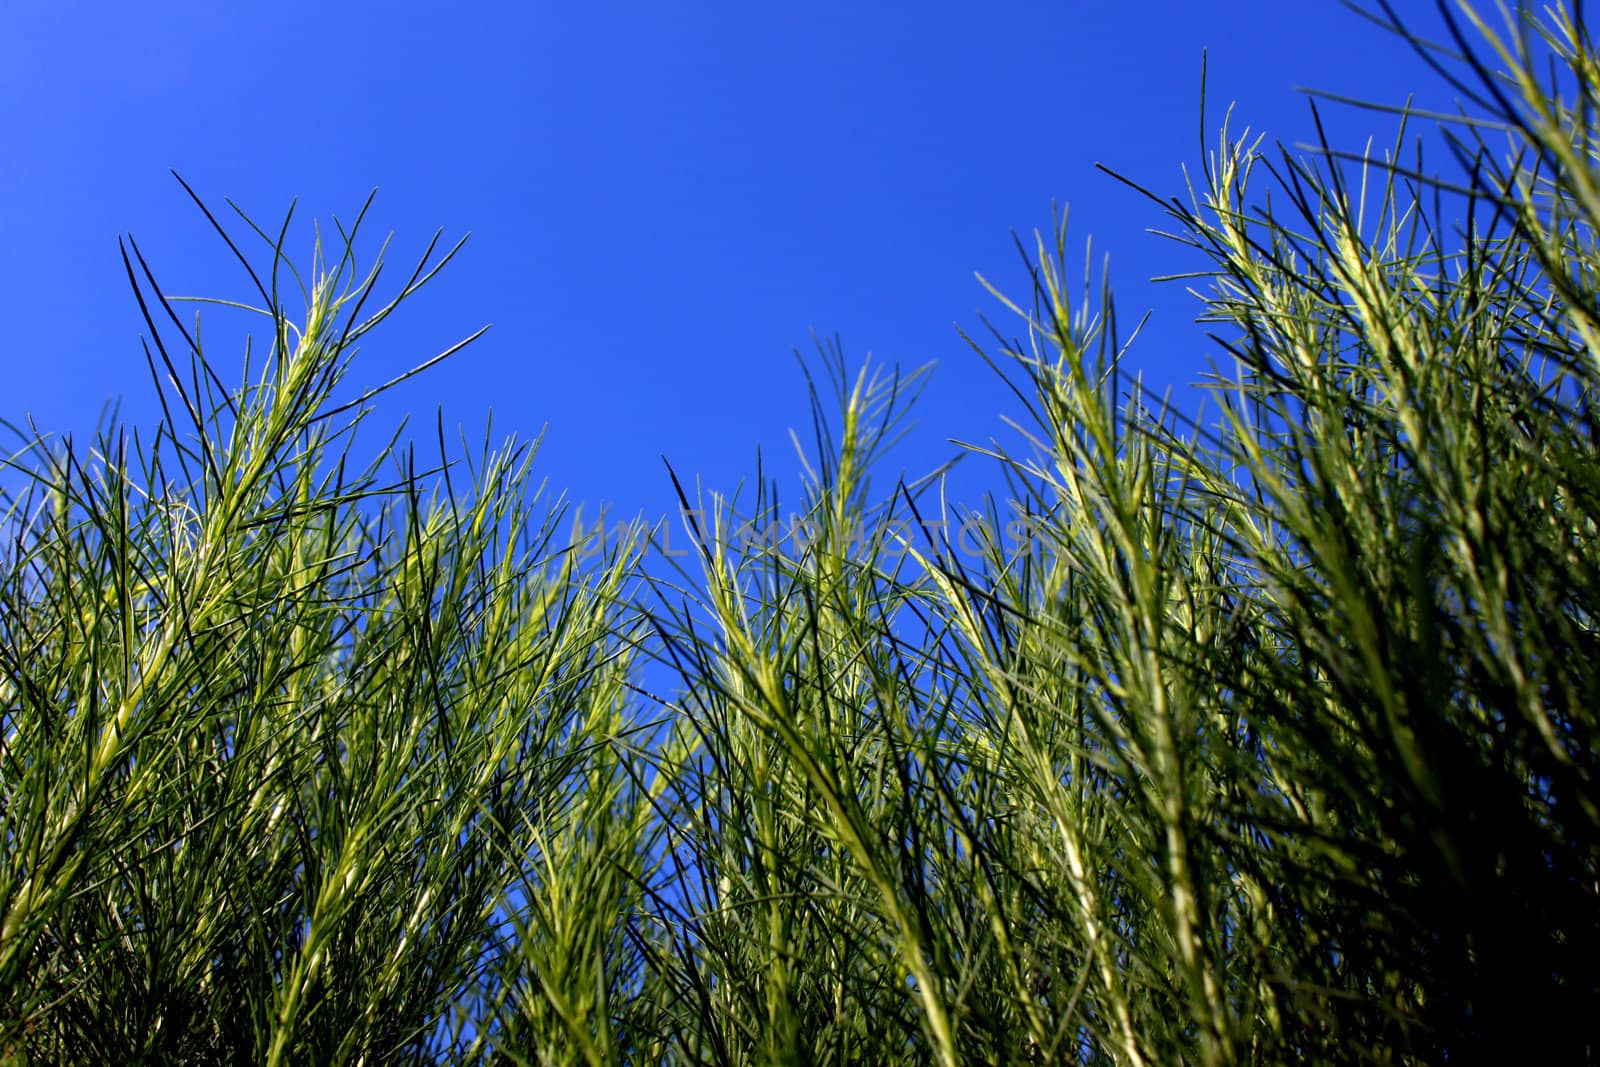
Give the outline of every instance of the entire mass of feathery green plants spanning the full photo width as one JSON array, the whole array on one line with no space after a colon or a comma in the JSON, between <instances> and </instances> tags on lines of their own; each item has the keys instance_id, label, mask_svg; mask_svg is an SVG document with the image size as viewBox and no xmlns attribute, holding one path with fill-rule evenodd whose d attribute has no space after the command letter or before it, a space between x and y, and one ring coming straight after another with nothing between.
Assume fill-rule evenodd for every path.
<instances>
[{"instance_id":1,"label":"entire mass of feathery green plants spanning the full photo width","mask_svg":"<svg viewBox=\"0 0 1600 1067\"><path fill-rule=\"evenodd\" d=\"M1154 197L1205 414L1058 221L970 338L1005 494L883 482L923 373L824 350L798 499L680 486L680 573L525 448L354 474L350 242L235 392L134 254L160 434L13 462L0 1049L1595 1061L1600 62L1442 10L1445 176L1398 109Z\"/></svg>"}]
</instances>

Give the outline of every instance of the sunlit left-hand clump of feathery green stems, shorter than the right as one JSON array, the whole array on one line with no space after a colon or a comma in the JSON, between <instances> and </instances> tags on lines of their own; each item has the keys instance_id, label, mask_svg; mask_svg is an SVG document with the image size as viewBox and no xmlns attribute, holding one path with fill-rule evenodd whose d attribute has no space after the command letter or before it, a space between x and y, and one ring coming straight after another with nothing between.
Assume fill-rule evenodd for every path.
<instances>
[{"instance_id":1,"label":"sunlit left-hand clump of feathery green stems, shorter than the right","mask_svg":"<svg viewBox=\"0 0 1600 1067\"><path fill-rule=\"evenodd\" d=\"M528 445L355 461L354 346L454 254L376 307L358 226L318 246L299 326L282 240L240 256L272 347L232 392L130 243L168 419L10 464L32 482L0 582L0 1048L453 1057L494 1037L499 966L587 848L626 550L579 573L550 549ZM544 944L584 969L614 933ZM587 1035L606 990L563 981Z\"/></svg>"}]
</instances>

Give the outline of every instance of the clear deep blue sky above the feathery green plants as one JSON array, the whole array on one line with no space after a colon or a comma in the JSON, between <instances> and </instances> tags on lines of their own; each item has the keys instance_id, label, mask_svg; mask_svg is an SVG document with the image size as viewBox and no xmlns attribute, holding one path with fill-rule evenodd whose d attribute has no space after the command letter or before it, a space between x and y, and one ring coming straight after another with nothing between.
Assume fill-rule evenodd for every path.
<instances>
[{"instance_id":1,"label":"clear deep blue sky above the feathery green plants","mask_svg":"<svg viewBox=\"0 0 1600 1067\"><path fill-rule=\"evenodd\" d=\"M1432 3L1398 6L1430 24ZM174 168L264 222L293 198L306 219L347 219L376 187L392 274L435 229L470 230L355 379L493 322L376 421L426 429L443 405L474 435L490 410L502 432L549 426L541 470L589 509L666 514L662 453L731 488L760 445L792 486L792 349L813 330L853 363L938 362L898 454L925 470L946 438L1016 414L957 325L998 312L974 272L1022 291L1011 232L1048 227L1053 200L1110 253L1122 320L1155 310L1133 366L1157 384L1205 370L1194 301L1146 282L1197 261L1094 170L1182 190L1202 50L1206 146L1229 101L1238 126L1307 141L1296 86L1450 104L1403 42L1334 0L5 5L0 416L83 432L122 397L152 419L120 234L168 291L251 294ZM1333 128L1387 139L1394 123L1339 112ZM229 379L243 347L218 322Z\"/></svg>"}]
</instances>

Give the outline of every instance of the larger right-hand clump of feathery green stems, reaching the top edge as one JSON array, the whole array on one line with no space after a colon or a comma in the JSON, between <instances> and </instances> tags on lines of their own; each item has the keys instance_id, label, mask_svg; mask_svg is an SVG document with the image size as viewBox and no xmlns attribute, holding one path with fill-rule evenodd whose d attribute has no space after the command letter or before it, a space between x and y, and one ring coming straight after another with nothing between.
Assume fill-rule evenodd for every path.
<instances>
[{"instance_id":1,"label":"larger right-hand clump of feathery green stems, reaching the top edge","mask_svg":"<svg viewBox=\"0 0 1600 1067\"><path fill-rule=\"evenodd\" d=\"M710 624L659 619L685 1059L1594 1059L1600 66L1566 10L1451 26L1459 179L1403 123L1320 163L1224 130L1155 197L1210 258L1210 419L1125 370L1062 226L1022 339L974 339L1027 414L976 450L1010 496L931 514L979 558L872 534L933 523L864 493L867 378L821 536L701 531Z\"/></svg>"}]
</instances>

